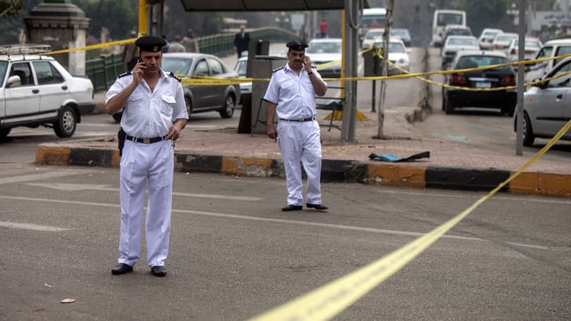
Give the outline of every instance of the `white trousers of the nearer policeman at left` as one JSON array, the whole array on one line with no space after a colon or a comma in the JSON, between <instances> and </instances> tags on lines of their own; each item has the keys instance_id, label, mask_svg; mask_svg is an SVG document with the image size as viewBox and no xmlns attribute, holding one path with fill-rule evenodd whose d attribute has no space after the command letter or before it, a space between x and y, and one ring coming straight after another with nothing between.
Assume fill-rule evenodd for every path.
<instances>
[{"instance_id":1,"label":"white trousers of the nearer policeman at left","mask_svg":"<svg viewBox=\"0 0 571 321\"><path fill-rule=\"evenodd\" d=\"M141 251L143 205L148 180L145 238L149 267L164 265L171 233L173 191L171 141L143 144L125 141L121 156L121 240L118 263L133 266Z\"/></svg>"}]
</instances>

